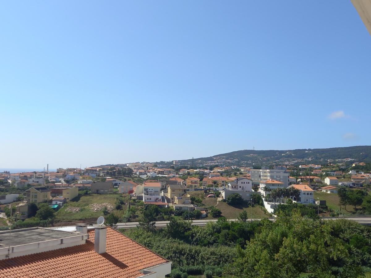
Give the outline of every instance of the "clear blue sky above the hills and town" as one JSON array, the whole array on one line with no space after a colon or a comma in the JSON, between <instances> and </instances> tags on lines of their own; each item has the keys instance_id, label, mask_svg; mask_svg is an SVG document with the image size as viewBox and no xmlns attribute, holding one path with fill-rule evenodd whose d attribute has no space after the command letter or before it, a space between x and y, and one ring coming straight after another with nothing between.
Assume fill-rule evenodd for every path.
<instances>
[{"instance_id":1,"label":"clear blue sky above the hills and town","mask_svg":"<svg viewBox=\"0 0 371 278\"><path fill-rule=\"evenodd\" d=\"M349 0L2 1L0 167L370 145Z\"/></svg>"}]
</instances>

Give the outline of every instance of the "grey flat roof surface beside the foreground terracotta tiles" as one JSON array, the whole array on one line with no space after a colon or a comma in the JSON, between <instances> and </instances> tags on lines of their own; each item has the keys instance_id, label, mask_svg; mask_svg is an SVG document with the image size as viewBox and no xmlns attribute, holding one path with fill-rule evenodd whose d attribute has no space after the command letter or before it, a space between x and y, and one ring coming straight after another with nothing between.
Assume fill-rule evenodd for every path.
<instances>
[{"instance_id":1,"label":"grey flat roof surface beside the foreground terracotta tiles","mask_svg":"<svg viewBox=\"0 0 371 278\"><path fill-rule=\"evenodd\" d=\"M69 238L77 236L74 232L58 231L55 229L47 228L27 228L18 229L14 231L1 231L0 232L0 248L8 246L17 246L23 244L31 244L41 241L48 241L52 239Z\"/></svg>"}]
</instances>

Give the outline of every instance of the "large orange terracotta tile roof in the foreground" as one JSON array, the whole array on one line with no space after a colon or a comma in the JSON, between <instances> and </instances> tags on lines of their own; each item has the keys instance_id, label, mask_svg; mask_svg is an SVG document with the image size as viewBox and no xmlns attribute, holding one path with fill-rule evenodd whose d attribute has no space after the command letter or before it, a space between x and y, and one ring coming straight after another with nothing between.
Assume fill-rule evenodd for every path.
<instances>
[{"instance_id":1,"label":"large orange terracotta tile roof in the foreground","mask_svg":"<svg viewBox=\"0 0 371 278\"><path fill-rule=\"evenodd\" d=\"M94 232L86 244L0 261L0 277L140 277L139 270L168 262L107 227L106 253L94 251Z\"/></svg>"}]
</instances>

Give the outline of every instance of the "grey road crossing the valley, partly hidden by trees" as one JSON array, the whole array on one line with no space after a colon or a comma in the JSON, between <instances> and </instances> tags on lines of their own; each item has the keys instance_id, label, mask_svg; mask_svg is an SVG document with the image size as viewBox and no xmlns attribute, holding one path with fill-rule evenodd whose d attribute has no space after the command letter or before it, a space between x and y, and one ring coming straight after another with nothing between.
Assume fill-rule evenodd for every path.
<instances>
[{"instance_id":1,"label":"grey road crossing the valley, partly hidden by trees","mask_svg":"<svg viewBox=\"0 0 371 278\"><path fill-rule=\"evenodd\" d=\"M268 218L270 221L276 221L275 218ZM362 225L371 225L371 217L322 217L323 220L336 220L336 219L347 219L351 221L358 222ZM248 219L247 221L260 221L262 219ZM206 226L208 222L216 222L217 219L203 219L203 220L193 220L191 225L194 226ZM238 221L238 219L228 219L228 221ZM168 224L170 221L157 221L155 222L155 226L157 228L163 228L166 227L166 224ZM116 228L118 229L130 229L135 228L139 225L139 222L128 222L128 223L117 223ZM95 225L94 225L95 226Z\"/></svg>"}]
</instances>

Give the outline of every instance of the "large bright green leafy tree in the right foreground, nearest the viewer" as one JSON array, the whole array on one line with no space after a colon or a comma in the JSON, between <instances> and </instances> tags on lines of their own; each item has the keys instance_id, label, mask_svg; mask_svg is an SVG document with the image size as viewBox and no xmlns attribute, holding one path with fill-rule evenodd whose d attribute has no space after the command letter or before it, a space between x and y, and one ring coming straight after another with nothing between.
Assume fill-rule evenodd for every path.
<instances>
[{"instance_id":1,"label":"large bright green leafy tree in the right foreground, nearest the viewer","mask_svg":"<svg viewBox=\"0 0 371 278\"><path fill-rule=\"evenodd\" d=\"M261 232L246 242L246 249L237 246L237 255L224 275L352 278L363 274L328 225L303 219L299 211L292 217L278 217L275 223L263 222Z\"/></svg>"}]
</instances>

